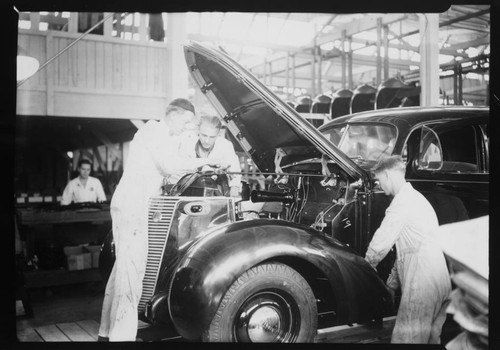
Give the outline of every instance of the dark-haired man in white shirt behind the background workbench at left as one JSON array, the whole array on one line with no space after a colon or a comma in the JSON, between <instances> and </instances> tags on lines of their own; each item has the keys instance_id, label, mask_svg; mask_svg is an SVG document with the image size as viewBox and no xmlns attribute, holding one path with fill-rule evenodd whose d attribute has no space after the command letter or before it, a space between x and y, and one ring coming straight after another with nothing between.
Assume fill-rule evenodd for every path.
<instances>
[{"instance_id":1,"label":"dark-haired man in white shirt behind the background workbench at left","mask_svg":"<svg viewBox=\"0 0 500 350\"><path fill-rule=\"evenodd\" d=\"M104 202L106 195L98 178L90 176L92 163L87 159L78 162L78 172L80 175L66 185L62 194L61 205L68 205L72 202Z\"/></svg>"}]
</instances>

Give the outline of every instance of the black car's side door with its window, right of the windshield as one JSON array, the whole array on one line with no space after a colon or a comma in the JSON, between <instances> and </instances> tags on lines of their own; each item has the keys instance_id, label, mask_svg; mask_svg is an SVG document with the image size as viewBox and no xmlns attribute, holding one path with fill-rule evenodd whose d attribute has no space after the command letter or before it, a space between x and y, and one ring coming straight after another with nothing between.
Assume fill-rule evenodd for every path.
<instances>
[{"instance_id":1,"label":"black car's side door with its window, right of the windshield","mask_svg":"<svg viewBox=\"0 0 500 350\"><path fill-rule=\"evenodd\" d=\"M406 177L440 224L488 214L488 140L487 118L433 122L411 133Z\"/></svg>"}]
</instances>

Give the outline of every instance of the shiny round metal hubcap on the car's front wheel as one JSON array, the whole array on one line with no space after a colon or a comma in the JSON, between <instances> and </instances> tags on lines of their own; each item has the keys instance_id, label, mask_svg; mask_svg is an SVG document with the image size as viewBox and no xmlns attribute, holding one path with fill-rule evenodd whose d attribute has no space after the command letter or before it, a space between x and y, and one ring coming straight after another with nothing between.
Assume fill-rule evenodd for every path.
<instances>
[{"instance_id":1,"label":"shiny round metal hubcap on the car's front wheel","mask_svg":"<svg viewBox=\"0 0 500 350\"><path fill-rule=\"evenodd\" d=\"M250 296L236 314L233 335L238 342L292 342L300 331L296 302L281 290Z\"/></svg>"}]
</instances>

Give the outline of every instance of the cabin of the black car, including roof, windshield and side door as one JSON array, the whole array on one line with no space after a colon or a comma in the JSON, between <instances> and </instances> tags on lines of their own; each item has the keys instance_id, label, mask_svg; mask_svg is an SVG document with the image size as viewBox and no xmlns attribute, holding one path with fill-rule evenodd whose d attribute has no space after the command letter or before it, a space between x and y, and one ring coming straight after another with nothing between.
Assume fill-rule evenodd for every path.
<instances>
[{"instance_id":1,"label":"cabin of the black car, including roof, windshield and side door","mask_svg":"<svg viewBox=\"0 0 500 350\"><path fill-rule=\"evenodd\" d=\"M408 107L340 117L319 130L366 170L383 154L401 155L406 180L442 225L488 214L488 125L487 107Z\"/></svg>"}]
</instances>

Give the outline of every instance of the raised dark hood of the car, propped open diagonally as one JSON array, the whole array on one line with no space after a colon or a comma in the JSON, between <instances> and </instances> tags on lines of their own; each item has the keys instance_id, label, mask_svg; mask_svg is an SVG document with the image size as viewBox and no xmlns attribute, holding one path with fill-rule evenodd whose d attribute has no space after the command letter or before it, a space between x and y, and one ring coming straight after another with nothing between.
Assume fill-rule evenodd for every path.
<instances>
[{"instance_id":1,"label":"raised dark hood of the car, propped open diagonally","mask_svg":"<svg viewBox=\"0 0 500 350\"><path fill-rule=\"evenodd\" d=\"M229 55L196 42L186 44L184 54L195 83L261 172L325 155L350 176L366 178L363 169Z\"/></svg>"}]
</instances>

